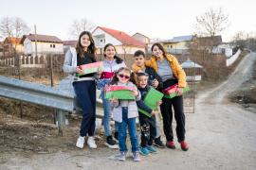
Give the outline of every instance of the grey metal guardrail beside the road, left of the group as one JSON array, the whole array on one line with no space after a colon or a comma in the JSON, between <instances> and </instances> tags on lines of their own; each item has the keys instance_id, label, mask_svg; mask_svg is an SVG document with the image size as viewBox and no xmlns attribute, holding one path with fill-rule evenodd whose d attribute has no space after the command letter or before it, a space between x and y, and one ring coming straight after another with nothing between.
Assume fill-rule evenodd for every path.
<instances>
[{"instance_id":1,"label":"grey metal guardrail beside the road, left of the group","mask_svg":"<svg viewBox=\"0 0 256 170\"><path fill-rule=\"evenodd\" d=\"M75 102L75 93L68 77L58 87L0 76L0 96L57 109L59 134L63 136L65 112L81 110ZM101 101L97 100L98 105ZM98 115L101 117L101 115Z\"/></svg>"}]
</instances>

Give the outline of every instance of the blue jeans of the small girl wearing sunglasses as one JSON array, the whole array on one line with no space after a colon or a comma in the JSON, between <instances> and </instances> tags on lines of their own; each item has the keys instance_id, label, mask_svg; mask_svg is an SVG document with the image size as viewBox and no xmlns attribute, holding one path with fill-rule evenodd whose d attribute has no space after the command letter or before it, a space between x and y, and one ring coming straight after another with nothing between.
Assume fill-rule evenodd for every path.
<instances>
[{"instance_id":1,"label":"blue jeans of the small girl wearing sunglasses","mask_svg":"<svg viewBox=\"0 0 256 170\"><path fill-rule=\"evenodd\" d=\"M130 140L132 144L132 152L138 151L138 137L137 137L137 127L136 127L136 117L128 119L128 108L122 108L122 122L119 123L119 150L121 152L127 152L126 146L126 127L128 126Z\"/></svg>"}]
</instances>

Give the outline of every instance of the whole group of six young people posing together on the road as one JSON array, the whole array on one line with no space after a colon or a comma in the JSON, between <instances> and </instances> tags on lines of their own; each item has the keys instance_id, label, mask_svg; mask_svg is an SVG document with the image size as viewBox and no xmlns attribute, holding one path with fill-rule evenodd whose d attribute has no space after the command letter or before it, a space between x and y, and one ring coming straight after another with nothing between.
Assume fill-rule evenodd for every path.
<instances>
[{"instance_id":1,"label":"whole group of six young people posing together on the road","mask_svg":"<svg viewBox=\"0 0 256 170\"><path fill-rule=\"evenodd\" d=\"M166 145L169 148L175 148L172 131L172 106L175 110L174 117L177 122L178 142L181 144L182 150L188 150L188 144L185 142L185 116L181 96L182 88L186 87L186 75L177 60L173 56L167 55L161 44L155 43L152 46L154 55L152 59L147 63L144 52L138 50L134 55L135 63L132 65L132 70L130 70L126 67L124 61L116 55L115 46L108 43L104 46L102 70L95 74L84 74L82 65L97 62L95 51L95 42L91 33L82 31L76 48L70 48L65 54L64 72L71 76L74 91L82 107L81 130L76 146L83 148L84 138L88 135L88 146L97 148L94 139L97 87L101 90L104 110L102 124L106 136L105 144L110 148L119 148L119 161L125 161L128 151L126 146L127 127L134 161L140 161L140 154L147 156L150 153L156 153L153 144L157 147L165 147ZM160 139L159 117L155 115L155 110L145 104L144 98L152 88L161 92L170 85L177 83L177 81L179 85L177 88L178 96L174 97L175 99L163 97L162 104L161 101L157 102L163 115L164 133L167 139L166 144L163 144ZM135 99L106 99L105 87L111 84L133 89L131 95ZM144 114L141 110L145 110L150 116ZM114 138L110 127L112 114L115 120ZM137 116L141 132L140 147L138 146L137 136ZM115 138L118 139L118 142Z\"/></svg>"}]
</instances>

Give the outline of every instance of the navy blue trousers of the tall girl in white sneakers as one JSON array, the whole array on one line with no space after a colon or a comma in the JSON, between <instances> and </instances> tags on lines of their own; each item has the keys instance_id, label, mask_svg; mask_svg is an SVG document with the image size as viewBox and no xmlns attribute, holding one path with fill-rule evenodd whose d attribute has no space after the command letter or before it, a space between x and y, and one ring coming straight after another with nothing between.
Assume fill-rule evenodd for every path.
<instances>
[{"instance_id":1,"label":"navy blue trousers of the tall girl in white sneakers","mask_svg":"<svg viewBox=\"0 0 256 170\"><path fill-rule=\"evenodd\" d=\"M75 81L73 87L82 107L80 136L94 135L96 121L96 84L94 80Z\"/></svg>"}]
</instances>

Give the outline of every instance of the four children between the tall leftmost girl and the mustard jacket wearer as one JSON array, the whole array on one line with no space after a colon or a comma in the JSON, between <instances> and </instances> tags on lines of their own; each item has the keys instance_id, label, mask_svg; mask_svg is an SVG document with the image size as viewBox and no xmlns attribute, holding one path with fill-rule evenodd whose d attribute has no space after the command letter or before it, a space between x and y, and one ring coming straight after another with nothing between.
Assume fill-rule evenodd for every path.
<instances>
[{"instance_id":1,"label":"four children between the tall leftmost girl and the mustard jacket wearer","mask_svg":"<svg viewBox=\"0 0 256 170\"><path fill-rule=\"evenodd\" d=\"M110 54L108 48L111 48ZM116 56L115 47L112 44L107 44L104 48L104 61L101 78L98 80L98 89L101 89L101 98L104 108L103 126L106 135L106 145L110 148L117 148L117 143L111 135L109 126L111 111L113 112L113 119L115 121L115 136L119 140L119 161L125 161L127 147L126 147L126 131L128 127L130 141L132 144L132 152L134 161L140 161L140 155L147 156L150 153L156 153L153 146L164 147L160 140L160 126L159 118L155 116L156 111L150 109L143 102L144 97L151 88L158 88L160 86L159 77L155 71L150 67L145 67L145 54L138 50L135 53L135 63L132 66L132 71L125 67L123 61L117 63L119 57ZM114 59L115 58L115 59ZM120 59L119 59L120 60ZM105 85L121 85L133 88L132 95L136 96L136 100L119 100L116 98L107 100L104 98ZM106 104L107 103L107 104ZM158 103L160 104L160 102ZM151 113L151 117L141 113L138 109L146 110ZM138 146L136 118L139 118L141 144Z\"/></svg>"}]
</instances>

